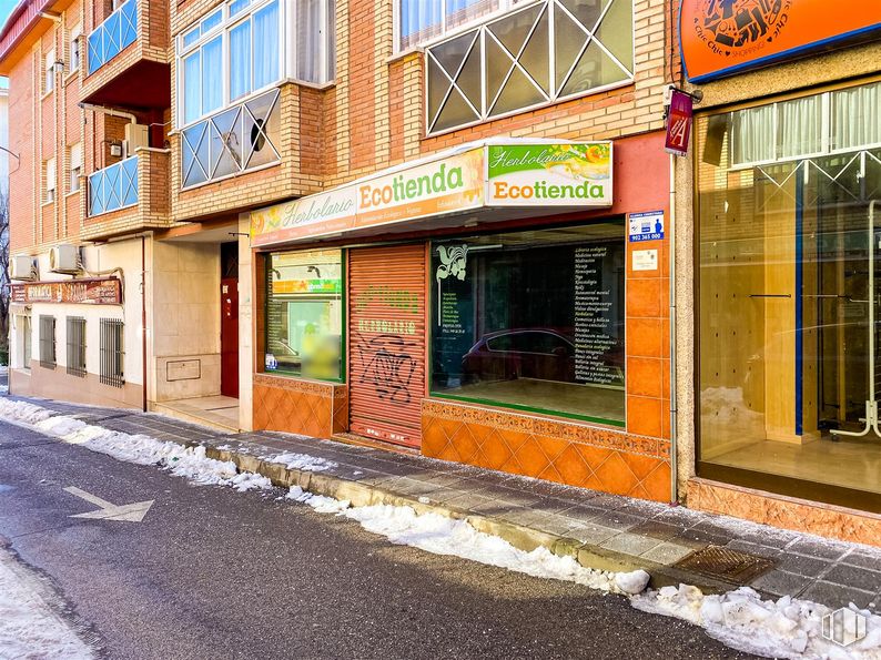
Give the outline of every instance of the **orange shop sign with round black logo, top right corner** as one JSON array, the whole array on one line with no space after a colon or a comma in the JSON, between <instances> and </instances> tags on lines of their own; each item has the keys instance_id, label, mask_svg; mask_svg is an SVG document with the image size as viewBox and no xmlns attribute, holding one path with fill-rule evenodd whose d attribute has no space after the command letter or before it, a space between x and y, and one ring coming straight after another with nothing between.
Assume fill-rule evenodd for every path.
<instances>
[{"instance_id":1,"label":"orange shop sign with round black logo, top right corner","mask_svg":"<svg viewBox=\"0 0 881 660\"><path fill-rule=\"evenodd\" d=\"M705 82L881 32L878 0L681 0L682 62Z\"/></svg>"}]
</instances>

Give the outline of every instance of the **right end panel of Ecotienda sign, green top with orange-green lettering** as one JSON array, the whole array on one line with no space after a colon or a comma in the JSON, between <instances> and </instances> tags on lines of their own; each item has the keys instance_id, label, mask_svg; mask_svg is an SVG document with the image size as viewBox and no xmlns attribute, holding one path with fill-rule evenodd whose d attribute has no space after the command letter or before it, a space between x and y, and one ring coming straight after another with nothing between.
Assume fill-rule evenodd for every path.
<instances>
[{"instance_id":1,"label":"right end panel of Ecotienda sign, green top with orange-green lettering","mask_svg":"<svg viewBox=\"0 0 881 660\"><path fill-rule=\"evenodd\" d=\"M488 148L490 206L610 206L611 143Z\"/></svg>"}]
</instances>

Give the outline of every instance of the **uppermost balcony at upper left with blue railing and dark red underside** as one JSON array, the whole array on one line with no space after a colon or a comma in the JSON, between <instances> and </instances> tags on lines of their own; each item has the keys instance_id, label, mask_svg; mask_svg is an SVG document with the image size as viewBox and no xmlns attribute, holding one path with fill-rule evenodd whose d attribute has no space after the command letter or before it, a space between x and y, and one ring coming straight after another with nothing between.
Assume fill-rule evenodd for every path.
<instances>
[{"instance_id":1,"label":"uppermost balcony at upper left with blue railing and dark red underside","mask_svg":"<svg viewBox=\"0 0 881 660\"><path fill-rule=\"evenodd\" d=\"M89 34L81 100L121 108L171 105L166 0L126 0Z\"/></svg>"}]
</instances>

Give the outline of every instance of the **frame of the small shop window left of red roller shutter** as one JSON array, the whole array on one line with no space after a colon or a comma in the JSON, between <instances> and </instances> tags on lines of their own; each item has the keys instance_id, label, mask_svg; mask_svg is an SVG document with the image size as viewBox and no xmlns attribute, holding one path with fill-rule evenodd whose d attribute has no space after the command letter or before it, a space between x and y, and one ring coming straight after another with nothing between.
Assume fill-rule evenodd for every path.
<instances>
[{"instance_id":1,"label":"frame of the small shop window left of red roller shutter","mask_svg":"<svg viewBox=\"0 0 881 660\"><path fill-rule=\"evenodd\" d=\"M271 264L272 256L276 254L291 254L295 252L315 252L315 251L338 251L340 252L340 305L341 305L341 332L340 332L340 375L336 378L315 378L301 374L292 374L290 372L281 372L267 369L265 358L269 347L269 303L270 303L270 276L272 273ZM286 378L291 380L304 380L314 383L328 383L335 385L345 385L347 383L348 374L348 250L346 247L276 247L261 252L263 260L263 276L261 277L261 286L263 287L263 296L261 301L261 314L263 316L263 332L261 333L260 347L261 352L257 355L257 373L263 376L273 378Z\"/></svg>"}]
</instances>

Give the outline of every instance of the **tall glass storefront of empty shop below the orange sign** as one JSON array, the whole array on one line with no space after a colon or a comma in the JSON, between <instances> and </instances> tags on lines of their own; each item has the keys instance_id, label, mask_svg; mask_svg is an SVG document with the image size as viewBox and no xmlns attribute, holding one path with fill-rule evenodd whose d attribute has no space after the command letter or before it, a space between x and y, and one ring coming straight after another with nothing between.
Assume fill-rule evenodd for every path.
<instances>
[{"instance_id":1,"label":"tall glass storefront of empty shop below the orange sign","mask_svg":"<svg viewBox=\"0 0 881 660\"><path fill-rule=\"evenodd\" d=\"M881 510L881 83L697 122L701 476Z\"/></svg>"}]
</instances>

